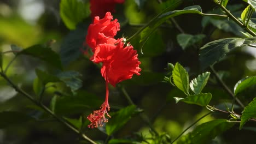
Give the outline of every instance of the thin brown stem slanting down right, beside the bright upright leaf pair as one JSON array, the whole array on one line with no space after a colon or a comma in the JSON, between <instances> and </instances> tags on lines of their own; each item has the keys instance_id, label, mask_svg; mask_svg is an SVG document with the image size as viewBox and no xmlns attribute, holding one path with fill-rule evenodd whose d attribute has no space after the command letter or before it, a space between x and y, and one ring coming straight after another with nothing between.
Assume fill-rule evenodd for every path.
<instances>
[{"instance_id":1,"label":"thin brown stem slanting down right, beside the bright upright leaf pair","mask_svg":"<svg viewBox=\"0 0 256 144\"><path fill-rule=\"evenodd\" d=\"M235 99L236 102L237 102L241 107L245 108L245 105L243 105L243 104L241 103L241 101L240 101L238 98L235 97L234 93L229 89L228 86L226 86L226 83L225 83L222 79L220 79L220 77L219 77L217 71L216 71L212 66L210 66L210 68L211 68L211 70L212 70L214 76L217 78L217 81L220 83L220 85L222 85L222 87L225 89L225 91L228 92L229 95L230 95L233 99Z\"/></svg>"}]
</instances>

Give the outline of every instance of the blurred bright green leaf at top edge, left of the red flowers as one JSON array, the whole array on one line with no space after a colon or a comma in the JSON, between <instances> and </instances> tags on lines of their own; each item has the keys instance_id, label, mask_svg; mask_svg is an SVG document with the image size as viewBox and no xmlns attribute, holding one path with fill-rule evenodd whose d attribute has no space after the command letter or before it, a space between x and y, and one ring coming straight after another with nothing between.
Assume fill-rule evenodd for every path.
<instances>
[{"instance_id":1,"label":"blurred bright green leaf at top edge, left of the red flowers","mask_svg":"<svg viewBox=\"0 0 256 144\"><path fill-rule=\"evenodd\" d=\"M90 15L89 1L61 0L60 15L69 29L75 29L79 22Z\"/></svg>"}]
</instances>

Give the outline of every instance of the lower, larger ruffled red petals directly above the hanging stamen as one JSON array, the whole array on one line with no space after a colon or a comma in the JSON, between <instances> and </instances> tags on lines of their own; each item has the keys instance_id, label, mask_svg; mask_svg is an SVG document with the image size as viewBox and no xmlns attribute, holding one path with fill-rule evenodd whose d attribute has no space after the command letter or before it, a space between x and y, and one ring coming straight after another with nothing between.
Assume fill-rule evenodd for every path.
<instances>
[{"instance_id":1,"label":"lower, larger ruffled red petals directly above the hanging stamen","mask_svg":"<svg viewBox=\"0 0 256 144\"><path fill-rule=\"evenodd\" d=\"M131 79L133 74L140 75L138 54L133 47L118 40L117 45L100 44L96 47L92 61L102 62L101 75L112 86L123 80Z\"/></svg>"}]
</instances>

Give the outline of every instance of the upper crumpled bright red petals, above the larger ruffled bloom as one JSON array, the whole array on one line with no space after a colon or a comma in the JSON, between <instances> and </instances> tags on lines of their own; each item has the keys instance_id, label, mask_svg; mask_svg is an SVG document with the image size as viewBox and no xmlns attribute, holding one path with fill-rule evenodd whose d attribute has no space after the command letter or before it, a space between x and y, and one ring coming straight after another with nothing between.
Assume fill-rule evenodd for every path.
<instances>
[{"instance_id":1,"label":"upper crumpled bright red petals, above the larger ruffled bloom","mask_svg":"<svg viewBox=\"0 0 256 144\"><path fill-rule=\"evenodd\" d=\"M91 47L92 52L95 51L98 44L114 44L117 42L114 36L117 35L117 31L120 31L120 24L117 19L111 20L113 20L113 16L108 12L103 19L95 16L94 23L88 27L86 43Z\"/></svg>"}]
</instances>

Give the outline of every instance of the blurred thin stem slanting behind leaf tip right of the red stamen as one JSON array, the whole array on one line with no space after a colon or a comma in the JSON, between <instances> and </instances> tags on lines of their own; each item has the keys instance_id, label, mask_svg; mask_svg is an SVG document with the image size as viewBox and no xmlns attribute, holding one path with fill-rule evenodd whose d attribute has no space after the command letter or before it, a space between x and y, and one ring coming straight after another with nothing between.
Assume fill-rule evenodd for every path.
<instances>
[{"instance_id":1,"label":"blurred thin stem slanting behind leaf tip right of the red stamen","mask_svg":"<svg viewBox=\"0 0 256 144\"><path fill-rule=\"evenodd\" d=\"M126 92L125 88L123 86L121 86L121 91L124 93L125 98L128 100L128 103L131 105L135 105L133 103L133 101L131 100L130 95ZM144 122L146 122L149 126L150 129L152 129L152 131L155 133L155 135L159 135L158 132L155 130L155 128L153 127L153 125L150 123L150 121L148 120L148 116L145 115L145 113L140 113L139 116L142 118L142 120Z\"/></svg>"}]
</instances>

